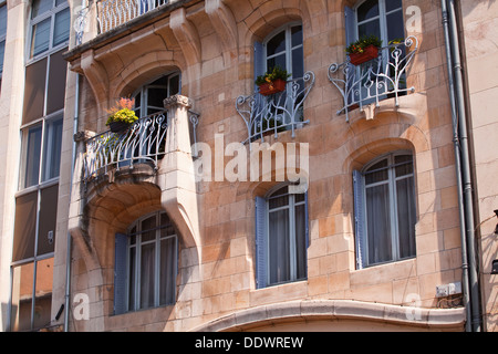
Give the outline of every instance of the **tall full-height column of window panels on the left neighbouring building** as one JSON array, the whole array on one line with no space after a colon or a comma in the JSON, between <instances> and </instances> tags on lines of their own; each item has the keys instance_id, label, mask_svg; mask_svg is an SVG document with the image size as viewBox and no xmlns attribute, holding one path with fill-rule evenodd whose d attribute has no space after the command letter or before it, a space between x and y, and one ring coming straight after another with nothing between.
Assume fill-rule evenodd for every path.
<instances>
[{"instance_id":1,"label":"tall full-height column of window panels on the left neighbouring building","mask_svg":"<svg viewBox=\"0 0 498 354\"><path fill-rule=\"evenodd\" d=\"M68 70L62 52L66 50L70 31L66 1L34 0L30 24L12 252L12 331L33 331L52 324L53 253Z\"/></svg>"}]
</instances>

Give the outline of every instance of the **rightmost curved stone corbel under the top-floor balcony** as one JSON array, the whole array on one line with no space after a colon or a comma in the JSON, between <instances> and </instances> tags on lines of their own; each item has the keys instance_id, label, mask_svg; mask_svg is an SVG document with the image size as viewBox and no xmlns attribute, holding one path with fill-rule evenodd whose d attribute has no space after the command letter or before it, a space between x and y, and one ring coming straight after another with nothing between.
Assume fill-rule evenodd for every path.
<instances>
[{"instance_id":1,"label":"rightmost curved stone corbel under the top-floor balcony","mask_svg":"<svg viewBox=\"0 0 498 354\"><path fill-rule=\"evenodd\" d=\"M234 13L221 0L206 0L205 11L221 42L224 61L227 64L230 59L238 56L237 23Z\"/></svg>"}]
</instances>

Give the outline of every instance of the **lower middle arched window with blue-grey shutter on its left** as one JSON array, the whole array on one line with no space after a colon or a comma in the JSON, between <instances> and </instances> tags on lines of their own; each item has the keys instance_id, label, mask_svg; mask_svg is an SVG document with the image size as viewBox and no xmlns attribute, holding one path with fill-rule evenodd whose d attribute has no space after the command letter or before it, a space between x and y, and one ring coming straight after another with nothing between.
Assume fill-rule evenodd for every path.
<instances>
[{"instance_id":1,"label":"lower middle arched window with blue-grey shutter on its left","mask_svg":"<svg viewBox=\"0 0 498 354\"><path fill-rule=\"evenodd\" d=\"M280 187L256 198L258 288L307 279L308 198Z\"/></svg>"}]
</instances>

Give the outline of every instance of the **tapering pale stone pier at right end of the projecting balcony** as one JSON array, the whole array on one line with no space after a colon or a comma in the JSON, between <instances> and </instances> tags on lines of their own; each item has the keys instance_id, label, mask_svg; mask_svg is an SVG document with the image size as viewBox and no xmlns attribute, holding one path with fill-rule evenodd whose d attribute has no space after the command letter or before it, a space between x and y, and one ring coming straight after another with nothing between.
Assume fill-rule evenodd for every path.
<instances>
[{"instance_id":1,"label":"tapering pale stone pier at right end of the projecting balcony","mask_svg":"<svg viewBox=\"0 0 498 354\"><path fill-rule=\"evenodd\" d=\"M158 174L162 205L178 228L185 246L200 252L200 218L188 117L191 101L175 95L166 98L164 105L168 113L168 131L166 155Z\"/></svg>"}]
</instances>

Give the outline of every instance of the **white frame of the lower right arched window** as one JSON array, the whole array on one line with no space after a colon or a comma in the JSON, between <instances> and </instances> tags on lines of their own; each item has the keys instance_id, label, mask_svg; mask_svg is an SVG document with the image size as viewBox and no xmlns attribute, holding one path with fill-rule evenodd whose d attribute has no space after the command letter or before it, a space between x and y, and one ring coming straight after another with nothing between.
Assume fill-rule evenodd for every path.
<instances>
[{"instance_id":1,"label":"white frame of the lower right arched window","mask_svg":"<svg viewBox=\"0 0 498 354\"><path fill-rule=\"evenodd\" d=\"M395 163L394 163L394 158L395 156L400 156L400 155L411 155L412 156L412 163L413 164L413 168L412 168L412 174L406 174L403 175L401 177L396 177L395 175ZM387 183L385 180L380 181L380 183L375 183L375 184L370 184L366 185L365 181L365 173L367 173L369 168L371 168L373 165L387 159L387 167L385 167L385 169L387 169ZM412 259L416 257L416 251L415 254L413 256L408 256L408 257L404 257L402 258L400 256L400 223L398 223L398 217L397 217L397 198L396 198L396 181L397 180L402 180L402 179L406 179L406 178L413 178L413 195L414 197L416 197L416 190L415 190L415 164L414 164L414 156L413 153L409 150L398 150L398 152L393 152L393 153L388 153L385 155L382 155L375 159L373 159L372 162L370 162L367 165L364 166L364 168L362 169L362 178L363 178L363 190L362 190L362 202L363 202L363 210L365 210L364 212L364 230L365 230L365 237L364 237L364 257L365 257L365 267L373 267L373 266L378 266L378 264L384 264L384 263L392 263L392 262L396 262L396 261L401 261L404 259ZM406 163L403 163L406 164ZM384 168L383 168L384 169ZM386 260L386 261L382 261L382 262L371 262L370 260L370 252L369 252L369 238L371 238L372 236L369 235L367 230L369 230L369 221L367 221L367 202L366 202L366 189L371 188L371 187L375 187L375 186L380 186L380 185L388 185L388 200L390 200L390 228L391 228L391 252L392 252L392 259L391 260ZM414 205L414 212L416 214L417 210L417 206L416 202ZM415 236L414 236L415 237ZM357 241L357 240L356 240Z\"/></svg>"}]
</instances>

